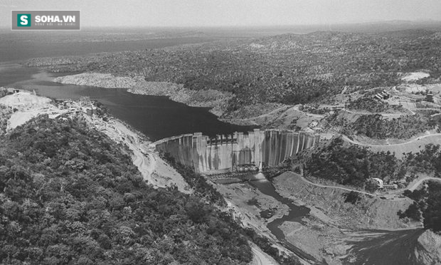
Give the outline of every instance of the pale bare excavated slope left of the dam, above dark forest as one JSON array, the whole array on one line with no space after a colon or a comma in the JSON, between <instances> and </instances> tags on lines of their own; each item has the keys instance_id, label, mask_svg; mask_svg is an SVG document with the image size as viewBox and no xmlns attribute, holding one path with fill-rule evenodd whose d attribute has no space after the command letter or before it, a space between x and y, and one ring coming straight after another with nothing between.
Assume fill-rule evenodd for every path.
<instances>
[{"instance_id":1,"label":"pale bare excavated slope left of the dam, above dark forest","mask_svg":"<svg viewBox=\"0 0 441 265\"><path fill-rule=\"evenodd\" d=\"M13 130L31 118L38 115L49 115L49 118L80 118L85 120L87 125L97 132L104 133L116 145L121 145L125 152L130 153L133 165L141 172L144 180L147 180L152 187L178 187L183 193L191 193L191 189L173 167L168 165L159 157L159 154L150 147L147 135L132 128L123 120L112 115L87 115L84 105L78 100L55 100L33 95L28 90L20 90L18 93L5 95L0 100L1 105L16 108L16 112L7 121L6 130ZM92 103L89 103L92 104ZM104 119L107 116L107 119Z\"/></svg>"}]
</instances>

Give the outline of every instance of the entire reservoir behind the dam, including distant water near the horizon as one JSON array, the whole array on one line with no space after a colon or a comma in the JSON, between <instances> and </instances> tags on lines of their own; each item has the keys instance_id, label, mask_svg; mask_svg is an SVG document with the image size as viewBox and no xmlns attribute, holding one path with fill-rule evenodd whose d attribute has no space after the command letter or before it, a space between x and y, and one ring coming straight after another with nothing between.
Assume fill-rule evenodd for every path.
<instances>
[{"instance_id":1,"label":"entire reservoir behind the dam, including distant water near the horizon","mask_svg":"<svg viewBox=\"0 0 441 265\"><path fill-rule=\"evenodd\" d=\"M89 96L99 100L116 118L147 135L150 140L202 132L205 135L245 132L255 127L222 123L206 108L191 108L166 97L134 95L124 89L60 85L51 82L37 68L21 68L26 59L55 56L84 56L90 53L142 51L144 49L206 43L222 36L185 28L85 28L82 31L10 31L0 29L0 86L36 90L48 98L78 99ZM67 75L65 73L64 75Z\"/></svg>"}]
</instances>

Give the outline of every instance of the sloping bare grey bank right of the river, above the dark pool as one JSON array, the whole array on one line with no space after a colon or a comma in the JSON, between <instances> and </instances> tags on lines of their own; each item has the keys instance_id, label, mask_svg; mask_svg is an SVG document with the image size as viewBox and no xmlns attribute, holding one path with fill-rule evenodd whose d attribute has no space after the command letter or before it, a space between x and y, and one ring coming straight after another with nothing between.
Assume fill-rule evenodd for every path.
<instances>
[{"instance_id":1,"label":"sloping bare grey bank right of the river, above the dark pool","mask_svg":"<svg viewBox=\"0 0 441 265\"><path fill-rule=\"evenodd\" d=\"M276 177L274 185L282 196L296 204L306 204L323 212L336 224L351 229L413 229L416 223L405 223L398 218L398 210L405 211L413 201L409 198L380 199L360 194L354 203L349 192L342 189L316 187L304 182L299 175L285 172Z\"/></svg>"}]
</instances>

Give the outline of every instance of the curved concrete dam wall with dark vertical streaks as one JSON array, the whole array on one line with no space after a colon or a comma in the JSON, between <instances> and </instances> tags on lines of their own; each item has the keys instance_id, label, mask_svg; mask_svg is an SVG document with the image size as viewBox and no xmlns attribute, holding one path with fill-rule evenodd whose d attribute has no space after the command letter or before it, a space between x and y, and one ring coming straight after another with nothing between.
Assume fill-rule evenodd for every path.
<instances>
[{"instance_id":1,"label":"curved concrete dam wall with dark vertical streaks","mask_svg":"<svg viewBox=\"0 0 441 265\"><path fill-rule=\"evenodd\" d=\"M196 172L233 171L238 167L279 165L287 157L312 147L319 135L291 130L255 129L210 138L193 133L154 142L156 150L168 152Z\"/></svg>"}]
</instances>

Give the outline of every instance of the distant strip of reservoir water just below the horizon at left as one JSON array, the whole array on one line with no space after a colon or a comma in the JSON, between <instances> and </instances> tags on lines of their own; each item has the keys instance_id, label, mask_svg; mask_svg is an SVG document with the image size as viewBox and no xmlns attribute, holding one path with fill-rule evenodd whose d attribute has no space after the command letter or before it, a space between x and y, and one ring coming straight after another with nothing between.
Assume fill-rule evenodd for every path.
<instances>
[{"instance_id":1,"label":"distant strip of reservoir water just below the horizon at left","mask_svg":"<svg viewBox=\"0 0 441 265\"><path fill-rule=\"evenodd\" d=\"M184 30L166 36L154 29L140 28L124 28L124 32L112 28L89 28L75 32L11 32L9 29L0 28L0 62L17 62L38 57L83 56L89 53L142 51L216 39L218 38Z\"/></svg>"}]
</instances>

